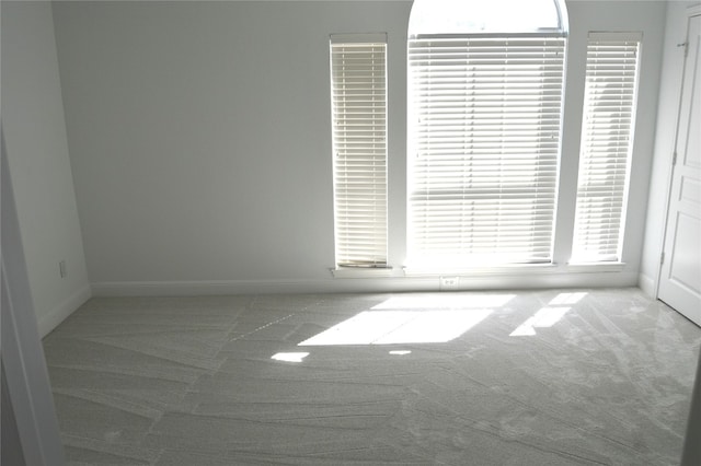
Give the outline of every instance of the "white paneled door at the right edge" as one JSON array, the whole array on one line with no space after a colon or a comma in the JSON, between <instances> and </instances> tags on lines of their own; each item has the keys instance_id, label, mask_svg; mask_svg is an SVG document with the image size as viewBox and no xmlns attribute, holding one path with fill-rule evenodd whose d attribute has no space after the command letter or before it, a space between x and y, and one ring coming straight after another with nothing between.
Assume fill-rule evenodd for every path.
<instances>
[{"instance_id":1,"label":"white paneled door at the right edge","mask_svg":"<svg viewBox=\"0 0 701 466\"><path fill-rule=\"evenodd\" d=\"M687 57L658 298L701 325L701 15L689 16Z\"/></svg>"}]
</instances>

